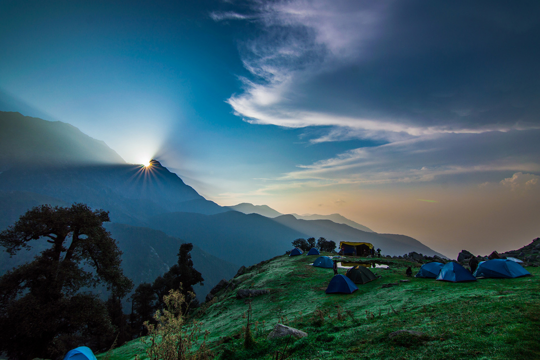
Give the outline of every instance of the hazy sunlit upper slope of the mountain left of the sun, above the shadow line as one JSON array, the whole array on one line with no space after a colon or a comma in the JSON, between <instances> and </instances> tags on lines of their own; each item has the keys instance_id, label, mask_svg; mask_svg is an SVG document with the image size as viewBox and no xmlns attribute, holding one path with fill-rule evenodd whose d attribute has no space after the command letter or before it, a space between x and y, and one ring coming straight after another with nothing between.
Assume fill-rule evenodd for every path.
<instances>
[{"instance_id":1,"label":"hazy sunlit upper slope of the mountain left of the sun, above the shadow line","mask_svg":"<svg viewBox=\"0 0 540 360\"><path fill-rule=\"evenodd\" d=\"M0 111L0 171L30 164L125 164L105 142L62 121Z\"/></svg>"}]
</instances>

